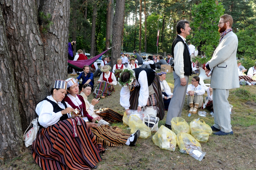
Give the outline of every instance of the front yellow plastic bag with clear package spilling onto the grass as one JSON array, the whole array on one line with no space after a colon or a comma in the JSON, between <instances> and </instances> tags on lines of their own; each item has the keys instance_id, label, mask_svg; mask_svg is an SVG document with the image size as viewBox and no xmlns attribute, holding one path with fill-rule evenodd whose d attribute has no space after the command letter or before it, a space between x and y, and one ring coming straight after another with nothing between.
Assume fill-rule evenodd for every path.
<instances>
[{"instance_id":1,"label":"front yellow plastic bag with clear package spilling onto the grass","mask_svg":"<svg viewBox=\"0 0 256 170\"><path fill-rule=\"evenodd\" d=\"M201 144L192 135L180 132L176 140L182 154L189 154L199 161L204 158L206 152L202 152Z\"/></svg>"}]
</instances>

